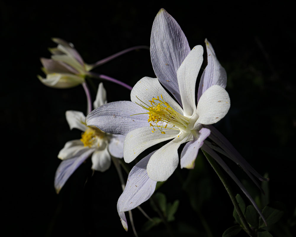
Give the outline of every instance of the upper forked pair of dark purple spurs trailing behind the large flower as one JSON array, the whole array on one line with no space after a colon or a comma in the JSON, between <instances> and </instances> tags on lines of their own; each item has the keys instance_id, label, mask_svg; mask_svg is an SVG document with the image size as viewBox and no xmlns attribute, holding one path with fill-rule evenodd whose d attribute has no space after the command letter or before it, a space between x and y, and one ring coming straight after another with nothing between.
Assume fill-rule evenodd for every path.
<instances>
[{"instance_id":1,"label":"upper forked pair of dark purple spurs trailing behind the large flower","mask_svg":"<svg viewBox=\"0 0 296 237\"><path fill-rule=\"evenodd\" d=\"M257 177L260 181L268 181L268 179L263 178L243 157L239 152L234 148L233 145L226 139L226 137L221 134L214 126L212 125L203 125L204 127L211 130L209 138L213 140L218 146L220 146L229 156L229 158L234 161L236 164L240 165L244 172L252 179L252 181L261 189L260 185L256 182L252 174ZM252 174L251 174L251 173ZM262 189L261 189L262 190Z\"/></svg>"}]
</instances>

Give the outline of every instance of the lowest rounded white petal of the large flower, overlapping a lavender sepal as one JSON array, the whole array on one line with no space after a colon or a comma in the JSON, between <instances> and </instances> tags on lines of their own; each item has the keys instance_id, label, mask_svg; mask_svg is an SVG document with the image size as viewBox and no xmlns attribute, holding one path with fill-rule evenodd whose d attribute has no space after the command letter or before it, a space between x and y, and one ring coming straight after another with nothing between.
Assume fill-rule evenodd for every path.
<instances>
[{"instance_id":1,"label":"lowest rounded white petal of the large flower, overlapping a lavender sepal","mask_svg":"<svg viewBox=\"0 0 296 237\"><path fill-rule=\"evenodd\" d=\"M149 178L165 181L173 174L179 163L178 148L181 142L170 141L158 149L147 164Z\"/></svg>"}]
</instances>

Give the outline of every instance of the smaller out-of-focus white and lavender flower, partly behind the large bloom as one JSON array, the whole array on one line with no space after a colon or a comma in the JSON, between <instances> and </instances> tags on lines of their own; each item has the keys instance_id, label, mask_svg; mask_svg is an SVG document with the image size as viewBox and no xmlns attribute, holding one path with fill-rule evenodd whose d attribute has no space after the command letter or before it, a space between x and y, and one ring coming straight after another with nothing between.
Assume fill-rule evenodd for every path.
<instances>
[{"instance_id":1,"label":"smaller out-of-focus white and lavender flower, partly behind the large bloom","mask_svg":"<svg viewBox=\"0 0 296 237\"><path fill-rule=\"evenodd\" d=\"M103 84L99 84L94 108L107 103L106 91ZM123 157L122 135L112 135L101 131L94 126L86 126L85 116L79 111L67 111L66 119L70 129L77 128L83 133L81 139L72 140L65 144L59 152L58 158L63 161L57 168L54 187L57 193L61 190L68 178L91 154L91 169L104 172L111 165L111 156Z\"/></svg>"}]
</instances>

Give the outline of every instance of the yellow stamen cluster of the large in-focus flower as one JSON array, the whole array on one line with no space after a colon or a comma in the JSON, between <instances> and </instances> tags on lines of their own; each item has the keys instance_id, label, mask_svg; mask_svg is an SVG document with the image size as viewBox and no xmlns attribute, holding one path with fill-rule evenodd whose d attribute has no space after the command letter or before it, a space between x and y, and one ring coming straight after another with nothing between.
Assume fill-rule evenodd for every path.
<instances>
[{"instance_id":1,"label":"yellow stamen cluster of the large in-focus flower","mask_svg":"<svg viewBox=\"0 0 296 237\"><path fill-rule=\"evenodd\" d=\"M142 108L148 110L148 122L150 123L150 127L152 126L153 130L160 130L162 134L165 134L165 131L172 129L174 127L186 129L189 124L189 119L178 112L176 112L168 102L163 99L163 96L160 95L157 98L152 98L149 100L150 105L145 104L140 100L143 104L138 104ZM169 126L169 128L167 128ZM165 130L166 129L166 130Z\"/></svg>"}]
</instances>

